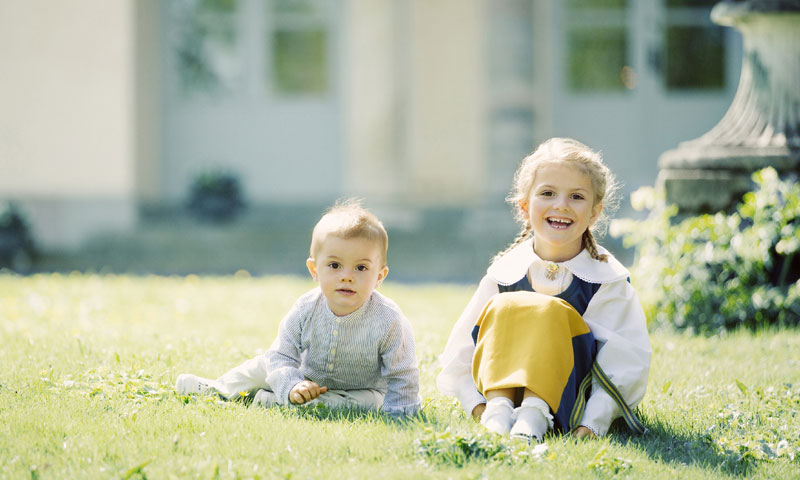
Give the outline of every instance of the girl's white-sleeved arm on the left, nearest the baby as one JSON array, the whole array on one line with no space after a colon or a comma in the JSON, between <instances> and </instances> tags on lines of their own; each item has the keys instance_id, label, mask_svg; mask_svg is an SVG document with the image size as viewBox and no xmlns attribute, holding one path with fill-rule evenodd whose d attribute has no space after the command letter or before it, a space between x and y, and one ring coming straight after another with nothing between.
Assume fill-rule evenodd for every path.
<instances>
[{"instance_id":1,"label":"girl's white-sleeved arm on the left, nearest the baby","mask_svg":"<svg viewBox=\"0 0 800 480\"><path fill-rule=\"evenodd\" d=\"M472 354L475 351L472 329L486 303L497 293L497 283L489 277L483 277L472 299L453 326L439 359L442 366L441 373L436 377L439 391L457 397L466 413L476 418L480 418L483 413L482 409L485 407L482 406L486 404L486 399L478 392L472 379Z\"/></svg>"}]
</instances>

